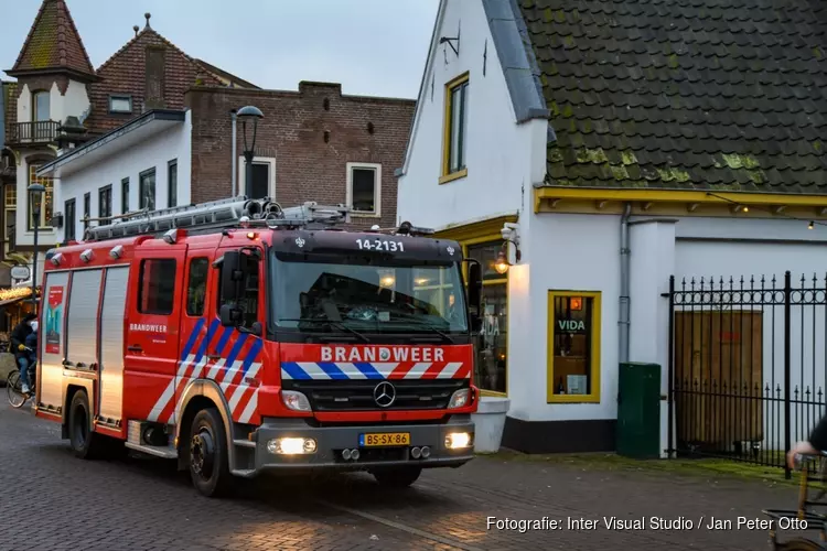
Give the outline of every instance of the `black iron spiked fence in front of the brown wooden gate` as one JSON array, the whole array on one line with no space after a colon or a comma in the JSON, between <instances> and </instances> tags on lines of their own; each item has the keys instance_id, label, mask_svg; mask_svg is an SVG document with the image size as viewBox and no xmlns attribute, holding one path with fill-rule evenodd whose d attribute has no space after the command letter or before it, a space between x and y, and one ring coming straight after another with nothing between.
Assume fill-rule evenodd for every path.
<instances>
[{"instance_id":1,"label":"black iron spiked fence in front of the brown wooden gate","mask_svg":"<svg viewBox=\"0 0 827 551\"><path fill-rule=\"evenodd\" d=\"M790 469L824 414L827 274L669 280L670 456Z\"/></svg>"}]
</instances>

